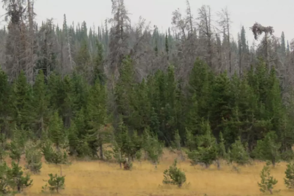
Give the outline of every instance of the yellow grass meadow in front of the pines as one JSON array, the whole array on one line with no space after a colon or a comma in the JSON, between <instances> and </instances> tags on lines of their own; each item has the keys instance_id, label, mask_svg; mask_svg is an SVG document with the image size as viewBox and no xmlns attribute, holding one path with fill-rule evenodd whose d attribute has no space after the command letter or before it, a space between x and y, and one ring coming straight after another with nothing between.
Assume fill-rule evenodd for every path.
<instances>
[{"instance_id":1,"label":"yellow grass meadow in front of the pines","mask_svg":"<svg viewBox=\"0 0 294 196\"><path fill-rule=\"evenodd\" d=\"M156 170L149 162L135 162L133 170L125 171L118 164L102 161L73 161L70 166L64 166L62 173L66 175L66 187L62 195L70 196L141 196L141 195L207 195L207 196L255 196L263 195L259 191L257 182L259 173L265 163L256 162L252 166L240 167L240 173L232 171L232 166L222 165L220 171L212 165L209 169L201 166L190 166L189 161L180 161L178 166L185 171L189 187L177 188L162 186L163 172L177 155L167 150ZM23 163L23 162L22 162ZM283 183L286 163L280 163L272 169L272 175L278 180L274 195L290 196ZM21 195L39 196L41 187L48 179L48 173L60 173L60 168L43 164L40 175L32 175L33 186Z\"/></svg>"}]
</instances>

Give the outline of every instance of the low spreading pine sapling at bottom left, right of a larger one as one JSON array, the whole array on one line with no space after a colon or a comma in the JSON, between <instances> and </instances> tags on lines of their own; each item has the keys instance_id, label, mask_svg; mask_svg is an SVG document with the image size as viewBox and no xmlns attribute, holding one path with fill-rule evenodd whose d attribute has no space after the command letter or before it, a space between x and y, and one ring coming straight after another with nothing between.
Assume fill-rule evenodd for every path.
<instances>
[{"instance_id":1,"label":"low spreading pine sapling at bottom left, right of a larger one","mask_svg":"<svg viewBox=\"0 0 294 196\"><path fill-rule=\"evenodd\" d=\"M44 180L47 183L45 186L42 186L42 192L45 192L49 188L51 192L56 191L59 193L61 189L64 189L65 176L58 176L57 174L53 176L52 173L49 173L48 176L50 179L48 181Z\"/></svg>"}]
</instances>

